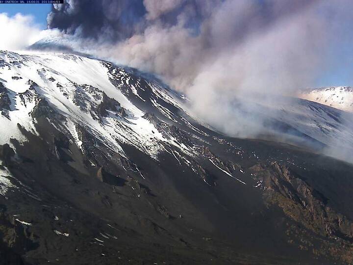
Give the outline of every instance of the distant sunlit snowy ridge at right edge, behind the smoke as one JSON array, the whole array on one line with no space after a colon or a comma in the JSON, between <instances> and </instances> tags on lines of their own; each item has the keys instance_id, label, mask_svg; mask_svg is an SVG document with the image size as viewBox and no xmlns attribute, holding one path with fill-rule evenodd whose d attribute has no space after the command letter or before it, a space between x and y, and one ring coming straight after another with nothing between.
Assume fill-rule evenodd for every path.
<instances>
[{"instance_id":1,"label":"distant sunlit snowy ridge at right edge, behind the smoke","mask_svg":"<svg viewBox=\"0 0 353 265\"><path fill-rule=\"evenodd\" d=\"M338 109L353 111L353 88L351 86L328 86L304 91L300 98Z\"/></svg>"}]
</instances>

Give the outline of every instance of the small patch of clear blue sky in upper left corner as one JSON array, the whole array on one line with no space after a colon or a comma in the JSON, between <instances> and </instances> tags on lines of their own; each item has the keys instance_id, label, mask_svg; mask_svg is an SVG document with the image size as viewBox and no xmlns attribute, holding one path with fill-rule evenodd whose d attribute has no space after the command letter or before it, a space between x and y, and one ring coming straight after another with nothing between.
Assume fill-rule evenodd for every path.
<instances>
[{"instance_id":1,"label":"small patch of clear blue sky in upper left corner","mask_svg":"<svg viewBox=\"0 0 353 265\"><path fill-rule=\"evenodd\" d=\"M11 17L17 13L32 15L35 23L43 29L47 28L47 15L50 9L51 4L0 4L0 13L7 13Z\"/></svg>"}]
</instances>

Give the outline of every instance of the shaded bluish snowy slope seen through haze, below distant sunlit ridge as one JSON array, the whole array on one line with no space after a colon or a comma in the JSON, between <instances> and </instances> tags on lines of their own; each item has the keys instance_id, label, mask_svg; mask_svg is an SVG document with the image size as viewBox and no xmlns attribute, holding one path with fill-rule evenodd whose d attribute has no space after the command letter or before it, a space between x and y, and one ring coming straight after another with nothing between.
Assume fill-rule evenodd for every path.
<instances>
[{"instance_id":1,"label":"shaded bluish snowy slope seen through haze, below distant sunlit ridge","mask_svg":"<svg viewBox=\"0 0 353 265\"><path fill-rule=\"evenodd\" d=\"M295 138L303 143L307 141L314 144L314 148L353 148L351 113L307 100L282 97L277 97L276 105L257 101L253 109L258 111L255 115L261 117L272 133L284 134L284 141L290 140L286 136L293 136L294 141Z\"/></svg>"}]
</instances>

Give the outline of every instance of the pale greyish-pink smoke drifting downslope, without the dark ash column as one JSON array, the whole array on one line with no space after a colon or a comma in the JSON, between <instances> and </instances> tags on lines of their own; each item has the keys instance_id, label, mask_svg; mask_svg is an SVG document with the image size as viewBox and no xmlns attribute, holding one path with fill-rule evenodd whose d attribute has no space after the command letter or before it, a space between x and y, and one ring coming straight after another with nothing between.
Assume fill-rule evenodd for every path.
<instances>
[{"instance_id":1,"label":"pale greyish-pink smoke drifting downslope, without the dark ash column","mask_svg":"<svg viewBox=\"0 0 353 265\"><path fill-rule=\"evenodd\" d=\"M269 0L267 9L250 0L202 1L198 10L187 1L162 2L144 0L151 23L141 32L113 43L104 35L85 38L81 50L158 75L186 93L204 120L241 137L263 133L256 114L262 110L243 104L239 112L234 101L260 93L271 105L271 94L290 96L314 86L337 36L325 12L334 10L335 19L346 15L336 3L323 1ZM161 19L182 5L176 23ZM195 32L188 23L197 15L202 20Z\"/></svg>"}]
</instances>

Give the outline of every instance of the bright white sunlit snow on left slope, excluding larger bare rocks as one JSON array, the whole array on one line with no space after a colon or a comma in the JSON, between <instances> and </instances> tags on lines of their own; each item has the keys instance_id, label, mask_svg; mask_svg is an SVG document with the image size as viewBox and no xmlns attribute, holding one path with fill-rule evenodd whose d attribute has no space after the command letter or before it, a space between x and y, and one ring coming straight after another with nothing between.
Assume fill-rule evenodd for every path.
<instances>
[{"instance_id":1,"label":"bright white sunlit snow on left slope, excluding larger bare rocks","mask_svg":"<svg viewBox=\"0 0 353 265\"><path fill-rule=\"evenodd\" d=\"M134 106L127 97L112 84L108 68L100 60L90 59L83 56L66 53L35 53L35 52L1 52L0 53L0 81L13 93L13 111L10 111L10 120L1 116L1 124L7 130L0 137L0 144L9 142L9 139L17 138L21 141L25 137L19 131L17 123L27 131L35 132L33 120L30 113L33 111L35 102L24 104L20 100L20 93L28 91L30 82L35 82L38 87L36 91L39 96L46 98L50 104L55 106L67 118L65 124L67 130L72 134L76 145L81 148L82 141L76 131L77 125L89 128L96 137L114 152L124 156L121 143L135 146L153 158L164 150L165 145L175 146L182 152L192 155L193 150L175 139L166 138L144 119L145 114L141 109ZM129 74L119 68L126 77L120 80L122 84L129 85ZM17 79L19 77L21 79ZM81 87L77 89L77 87ZM93 88L92 88L93 87ZM96 90L95 90L96 89ZM130 84L133 94L139 97L139 87ZM161 87L151 84L155 97L163 97L163 100L180 107L172 96L162 91ZM79 92L79 91L81 92ZM83 98L75 98L77 93ZM115 113L109 113L102 121L94 119L92 115L80 108L76 101L84 99L85 105L95 108L101 103L101 94L104 92L108 97L115 99L127 110L127 117L119 118ZM153 105L165 116L173 121L174 113L161 106L156 100ZM79 102L78 102L79 103Z\"/></svg>"}]
</instances>

